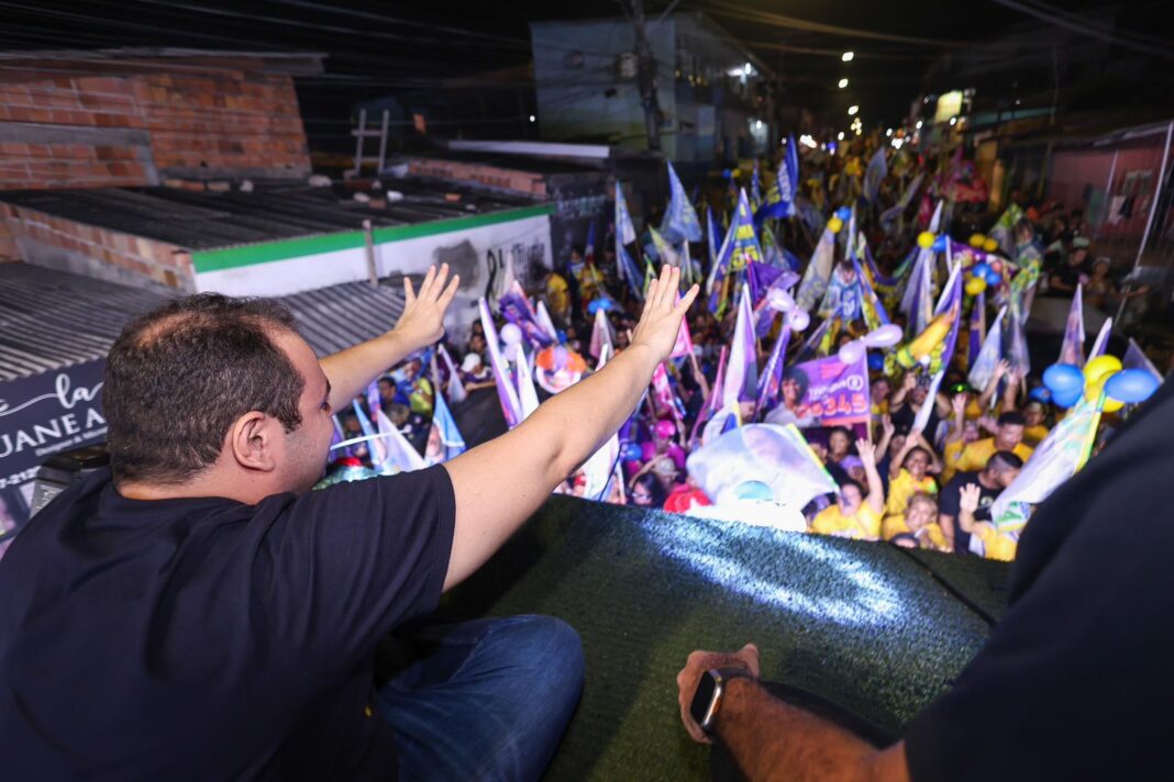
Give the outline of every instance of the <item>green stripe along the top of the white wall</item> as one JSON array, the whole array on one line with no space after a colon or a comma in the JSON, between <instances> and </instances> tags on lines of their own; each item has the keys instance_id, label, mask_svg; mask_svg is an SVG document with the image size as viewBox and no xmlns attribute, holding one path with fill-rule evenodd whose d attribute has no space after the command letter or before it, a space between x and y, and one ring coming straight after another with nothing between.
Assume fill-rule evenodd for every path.
<instances>
[{"instance_id":1,"label":"green stripe along the top of the white wall","mask_svg":"<svg viewBox=\"0 0 1174 782\"><path fill-rule=\"evenodd\" d=\"M416 223L413 225L393 225L378 227L372 231L376 244L391 244L407 239L418 239L426 236L440 233L452 233L454 231L468 231L472 229L497 225L499 223L512 223L531 217L542 217L553 215L554 204L539 204L538 206L526 206L524 209L511 209L504 212L492 212L490 215L474 215L471 217L458 217L451 220L432 220L429 223ZM271 260L285 260L288 258L302 258L303 256L317 256L324 252L338 250L353 250L363 246L363 231L340 231L338 233L326 233L324 236L302 237L298 239L281 239L277 242L264 242L261 244L249 244L239 247L225 247L223 250L205 250L191 253L191 263L197 273L218 272L225 268L238 268L241 266L252 266Z\"/></svg>"}]
</instances>

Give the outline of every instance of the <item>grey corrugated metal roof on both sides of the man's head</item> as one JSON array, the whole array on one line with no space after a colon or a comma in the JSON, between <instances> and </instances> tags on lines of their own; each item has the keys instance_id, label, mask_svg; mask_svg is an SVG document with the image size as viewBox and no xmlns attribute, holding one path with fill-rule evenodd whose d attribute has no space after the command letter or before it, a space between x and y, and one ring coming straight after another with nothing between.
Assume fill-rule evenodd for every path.
<instances>
[{"instance_id":1,"label":"grey corrugated metal roof on both sides of the man's head","mask_svg":"<svg viewBox=\"0 0 1174 782\"><path fill-rule=\"evenodd\" d=\"M104 358L123 326L166 294L28 264L0 264L0 381ZM404 311L402 290L344 283L278 299L318 355L373 339Z\"/></svg>"}]
</instances>

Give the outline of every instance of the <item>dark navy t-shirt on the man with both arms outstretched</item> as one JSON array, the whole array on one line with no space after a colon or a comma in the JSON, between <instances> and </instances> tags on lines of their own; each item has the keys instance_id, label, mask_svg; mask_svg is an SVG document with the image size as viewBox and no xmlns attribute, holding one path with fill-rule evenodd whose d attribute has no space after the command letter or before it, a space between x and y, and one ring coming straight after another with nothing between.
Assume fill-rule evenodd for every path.
<instances>
[{"instance_id":1,"label":"dark navy t-shirt on the man with both arms outstretched","mask_svg":"<svg viewBox=\"0 0 1174 782\"><path fill-rule=\"evenodd\" d=\"M373 650L454 516L440 465L251 506L79 482L0 560L0 775L394 778Z\"/></svg>"}]
</instances>

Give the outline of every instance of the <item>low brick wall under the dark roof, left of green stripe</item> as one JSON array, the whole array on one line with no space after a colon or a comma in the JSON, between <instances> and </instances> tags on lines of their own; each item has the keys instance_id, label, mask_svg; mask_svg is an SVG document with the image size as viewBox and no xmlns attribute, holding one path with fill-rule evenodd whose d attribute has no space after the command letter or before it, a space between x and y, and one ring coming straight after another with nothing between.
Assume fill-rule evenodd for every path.
<instances>
[{"instance_id":1,"label":"low brick wall under the dark roof, left of green stripe","mask_svg":"<svg viewBox=\"0 0 1174 782\"><path fill-rule=\"evenodd\" d=\"M195 290L191 256L175 245L11 204L0 204L0 225L7 226L12 242L19 243L21 256L29 263L130 284L149 281Z\"/></svg>"}]
</instances>

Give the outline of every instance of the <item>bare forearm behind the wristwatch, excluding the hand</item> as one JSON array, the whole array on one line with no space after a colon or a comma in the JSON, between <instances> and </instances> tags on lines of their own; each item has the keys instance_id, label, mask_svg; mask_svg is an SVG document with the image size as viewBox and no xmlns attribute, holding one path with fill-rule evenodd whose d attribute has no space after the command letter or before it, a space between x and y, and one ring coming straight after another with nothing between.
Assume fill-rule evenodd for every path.
<instances>
[{"instance_id":1,"label":"bare forearm behind the wristwatch, excluding the hand","mask_svg":"<svg viewBox=\"0 0 1174 782\"><path fill-rule=\"evenodd\" d=\"M904 749L880 752L843 728L789 706L749 679L729 682L718 740L750 782L908 778Z\"/></svg>"}]
</instances>

